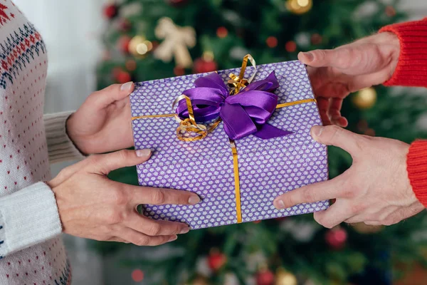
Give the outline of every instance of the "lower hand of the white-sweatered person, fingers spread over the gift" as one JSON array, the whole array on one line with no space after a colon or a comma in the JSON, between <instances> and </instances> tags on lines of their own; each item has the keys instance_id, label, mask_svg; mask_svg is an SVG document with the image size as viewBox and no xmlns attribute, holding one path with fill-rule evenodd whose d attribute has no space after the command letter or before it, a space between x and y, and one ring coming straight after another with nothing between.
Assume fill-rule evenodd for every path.
<instances>
[{"instance_id":1,"label":"lower hand of the white-sweatered person, fingers spread over the gift","mask_svg":"<svg viewBox=\"0 0 427 285\"><path fill-rule=\"evenodd\" d=\"M189 232L186 224L155 221L138 214L136 208L139 204L197 204L200 198L196 194L125 185L107 178L108 172L145 162L149 156L149 150L93 155L48 182L55 193L63 232L139 246L172 242L176 234Z\"/></svg>"}]
</instances>

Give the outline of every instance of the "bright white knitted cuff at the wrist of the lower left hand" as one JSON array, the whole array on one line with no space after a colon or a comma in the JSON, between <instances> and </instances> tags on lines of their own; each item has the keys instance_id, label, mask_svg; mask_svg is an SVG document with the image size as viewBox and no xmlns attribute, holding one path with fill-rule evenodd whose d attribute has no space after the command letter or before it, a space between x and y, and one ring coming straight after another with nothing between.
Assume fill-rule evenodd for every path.
<instances>
[{"instance_id":1,"label":"bright white knitted cuff at the wrist of the lower left hand","mask_svg":"<svg viewBox=\"0 0 427 285\"><path fill-rule=\"evenodd\" d=\"M0 198L0 257L62 232L55 195L43 182Z\"/></svg>"}]
</instances>

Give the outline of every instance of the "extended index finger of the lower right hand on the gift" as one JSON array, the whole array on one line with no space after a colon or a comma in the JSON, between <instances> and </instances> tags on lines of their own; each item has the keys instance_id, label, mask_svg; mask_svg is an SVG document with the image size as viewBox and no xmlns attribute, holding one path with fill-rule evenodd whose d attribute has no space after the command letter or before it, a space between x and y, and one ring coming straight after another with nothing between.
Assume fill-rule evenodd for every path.
<instances>
[{"instance_id":1,"label":"extended index finger of the lower right hand on the gift","mask_svg":"<svg viewBox=\"0 0 427 285\"><path fill-rule=\"evenodd\" d=\"M342 177L307 185L277 197L273 204L277 209L286 209L302 203L313 203L341 197Z\"/></svg>"}]
</instances>

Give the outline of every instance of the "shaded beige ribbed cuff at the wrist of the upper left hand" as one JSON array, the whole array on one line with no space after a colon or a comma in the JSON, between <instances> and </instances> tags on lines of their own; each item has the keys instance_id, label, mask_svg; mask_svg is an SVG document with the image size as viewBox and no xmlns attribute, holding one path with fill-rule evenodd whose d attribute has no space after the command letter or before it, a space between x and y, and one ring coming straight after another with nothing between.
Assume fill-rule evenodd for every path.
<instances>
[{"instance_id":1,"label":"shaded beige ribbed cuff at the wrist of the upper left hand","mask_svg":"<svg viewBox=\"0 0 427 285\"><path fill-rule=\"evenodd\" d=\"M80 150L73 144L67 135L65 123L73 112L63 112L44 115L46 140L48 141L49 161L51 163L66 160L83 160Z\"/></svg>"}]
</instances>

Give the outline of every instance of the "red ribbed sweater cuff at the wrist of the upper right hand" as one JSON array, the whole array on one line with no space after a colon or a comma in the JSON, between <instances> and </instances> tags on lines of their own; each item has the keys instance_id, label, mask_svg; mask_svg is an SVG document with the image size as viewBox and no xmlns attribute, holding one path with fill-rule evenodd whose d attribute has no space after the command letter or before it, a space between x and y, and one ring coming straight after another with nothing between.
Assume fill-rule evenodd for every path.
<instances>
[{"instance_id":1,"label":"red ribbed sweater cuff at the wrist of the upper right hand","mask_svg":"<svg viewBox=\"0 0 427 285\"><path fill-rule=\"evenodd\" d=\"M385 86L427 87L427 19L381 28L399 37L399 63Z\"/></svg>"}]
</instances>

